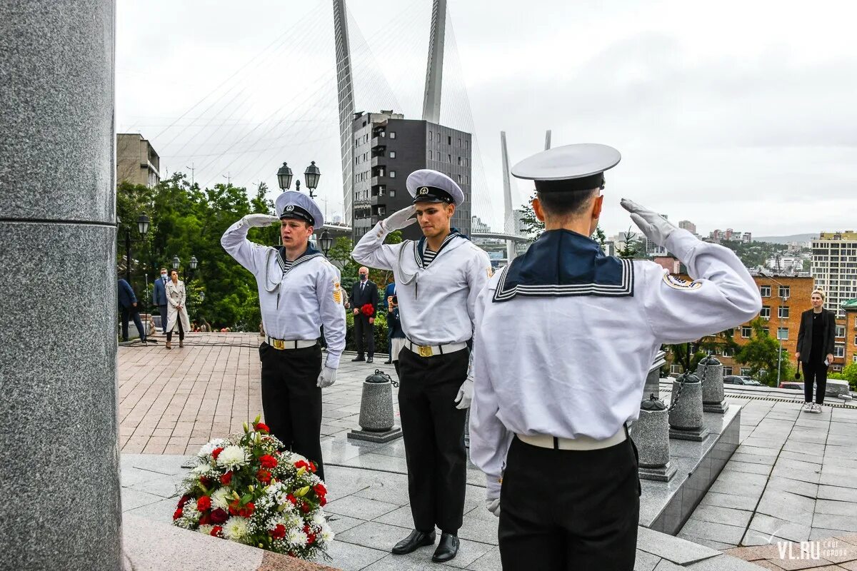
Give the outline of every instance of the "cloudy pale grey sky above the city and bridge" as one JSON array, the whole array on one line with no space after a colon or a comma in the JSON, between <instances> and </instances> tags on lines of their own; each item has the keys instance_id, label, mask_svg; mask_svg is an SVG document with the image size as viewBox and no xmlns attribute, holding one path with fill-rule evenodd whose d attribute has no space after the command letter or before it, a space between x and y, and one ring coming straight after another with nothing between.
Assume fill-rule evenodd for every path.
<instances>
[{"instance_id":1,"label":"cloudy pale grey sky above the city and bridge","mask_svg":"<svg viewBox=\"0 0 857 571\"><path fill-rule=\"evenodd\" d=\"M857 6L848 2L448 0L441 120L473 129L499 224L500 131L512 163L554 146L622 153L602 225L626 196L700 231L857 228ZM430 0L351 0L358 110L422 112ZM342 209L330 0L122 0L117 128L170 173L276 187L279 164L322 169ZM516 203L530 194L518 181ZM327 202L324 202L326 200Z\"/></svg>"}]
</instances>

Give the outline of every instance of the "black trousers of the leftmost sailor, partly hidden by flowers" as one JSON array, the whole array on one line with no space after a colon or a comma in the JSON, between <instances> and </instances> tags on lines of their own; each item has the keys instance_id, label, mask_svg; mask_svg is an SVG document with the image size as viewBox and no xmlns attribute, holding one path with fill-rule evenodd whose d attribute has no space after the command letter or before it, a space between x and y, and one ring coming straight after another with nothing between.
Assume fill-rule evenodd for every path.
<instances>
[{"instance_id":1,"label":"black trousers of the leftmost sailor, partly hidden by flowers","mask_svg":"<svg viewBox=\"0 0 857 571\"><path fill-rule=\"evenodd\" d=\"M262 343L262 410L265 424L287 449L318 465L321 458L321 389L315 386L321 372L321 348L280 351Z\"/></svg>"}]
</instances>

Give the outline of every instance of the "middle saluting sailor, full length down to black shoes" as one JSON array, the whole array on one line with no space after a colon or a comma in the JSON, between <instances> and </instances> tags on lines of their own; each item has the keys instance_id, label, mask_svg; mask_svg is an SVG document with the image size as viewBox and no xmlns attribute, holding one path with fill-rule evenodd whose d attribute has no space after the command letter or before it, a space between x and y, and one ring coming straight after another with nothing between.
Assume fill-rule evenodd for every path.
<instances>
[{"instance_id":1,"label":"middle saluting sailor, full length down to black shoes","mask_svg":"<svg viewBox=\"0 0 857 571\"><path fill-rule=\"evenodd\" d=\"M357 262L393 270L405 347L399 353L399 414L408 464L408 494L414 531L393 547L403 555L434 544L434 562L458 553L464 515L467 453L465 408L473 380L470 350L476 296L488 282L488 254L452 229L461 188L435 170L408 176L414 205L381 221L357 243ZM411 218L416 214L416 219ZM419 241L386 245L389 232L418 222Z\"/></svg>"}]
</instances>

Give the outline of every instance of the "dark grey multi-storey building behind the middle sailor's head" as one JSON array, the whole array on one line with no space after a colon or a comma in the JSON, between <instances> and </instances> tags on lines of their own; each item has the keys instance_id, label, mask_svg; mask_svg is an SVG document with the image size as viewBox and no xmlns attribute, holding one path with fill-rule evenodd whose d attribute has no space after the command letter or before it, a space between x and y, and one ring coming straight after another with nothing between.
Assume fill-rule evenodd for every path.
<instances>
[{"instance_id":1,"label":"dark grey multi-storey building behind the middle sailor's head","mask_svg":"<svg viewBox=\"0 0 857 571\"><path fill-rule=\"evenodd\" d=\"M405 181L413 171L433 169L458 183L464 204L452 225L470 235L471 152L470 133L437 123L405 119L392 110L357 113L352 123L353 211L357 241L387 215L411 205ZM416 225L403 231L405 239L422 236Z\"/></svg>"}]
</instances>

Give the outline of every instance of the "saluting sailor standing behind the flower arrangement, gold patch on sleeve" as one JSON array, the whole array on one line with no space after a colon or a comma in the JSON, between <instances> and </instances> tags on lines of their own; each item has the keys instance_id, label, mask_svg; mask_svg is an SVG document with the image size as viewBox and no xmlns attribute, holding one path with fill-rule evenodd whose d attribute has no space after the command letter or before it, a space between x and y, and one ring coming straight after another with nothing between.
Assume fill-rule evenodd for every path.
<instances>
[{"instance_id":1,"label":"saluting sailor standing behind the flower arrangement, gold patch on sleeve","mask_svg":"<svg viewBox=\"0 0 857 571\"><path fill-rule=\"evenodd\" d=\"M280 194L277 216L249 214L226 230L220 243L253 273L259 288L266 341L262 362L262 409L271 433L318 466L321 459L321 389L336 382L345 348L345 309L337 270L309 244L314 228L324 225L315 201L297 191ZM282 247L247 239L250 227L279 221ZM327 359L321 365L317 342L324 325Z\"/></svg>"}]
</instances>

